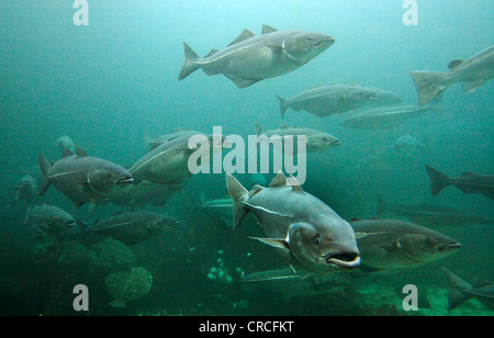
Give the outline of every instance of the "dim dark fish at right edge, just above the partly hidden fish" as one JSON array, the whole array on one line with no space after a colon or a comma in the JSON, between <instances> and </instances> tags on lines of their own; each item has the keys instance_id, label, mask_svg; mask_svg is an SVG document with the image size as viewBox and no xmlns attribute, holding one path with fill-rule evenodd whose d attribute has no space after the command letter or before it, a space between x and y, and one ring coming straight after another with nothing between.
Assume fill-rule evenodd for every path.
<instances>
[{"instance_id":1,"label":"dim dark fish at right edge, just above the partly hidden fish","mask_svg":"<svg viewBox=\"0 0 494 338\"><path fill-rule=\"evenodd\" d=\"M404 216L414 223L431 227L465 227L494 224L494 221L486 216L470 214L447 205L426 203L416 205L388 204L381 194L378 194L378 215L385 211L390 211L397 216Z\"/></svg>"}]
</instances>

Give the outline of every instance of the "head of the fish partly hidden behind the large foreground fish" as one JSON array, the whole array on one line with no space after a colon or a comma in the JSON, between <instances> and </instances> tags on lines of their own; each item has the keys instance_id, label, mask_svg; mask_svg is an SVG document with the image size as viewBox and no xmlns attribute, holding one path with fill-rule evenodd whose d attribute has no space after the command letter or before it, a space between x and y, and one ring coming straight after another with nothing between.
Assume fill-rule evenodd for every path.
<instances>
[{"instance_id":1,"label":"head of the fish partly hidden behind the large foreground fish","mask_svg":"<svg viewBox=\"0 0 494 338\"><path fill-rule=\"evenodd\" d=\"M398 252L417 263L427 263L454 254L461 245L441 234L409 234L396 241Z\"/></svg>"}]
</instances>

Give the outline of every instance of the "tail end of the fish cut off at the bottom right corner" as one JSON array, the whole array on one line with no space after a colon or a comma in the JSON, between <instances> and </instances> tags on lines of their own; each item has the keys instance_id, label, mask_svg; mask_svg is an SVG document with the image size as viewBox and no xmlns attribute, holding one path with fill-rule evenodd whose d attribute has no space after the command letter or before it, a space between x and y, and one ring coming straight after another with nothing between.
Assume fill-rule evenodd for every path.
<instances>
[{"instance_id":1,"label":"tail end of the fish cut off at the bottom right corner","mask_svg":"<svg viewBox=\"0 0 494 338\"><path fill-rule=\"evenodd\" d=\"M484 281L476 285L471 285L469 282L462 280L457 274L441 268L448 280L448 309L452 311L463 304L464 302L476 298L479 302L494 311L494 283Z\"/></svg>"}]
</instances>

